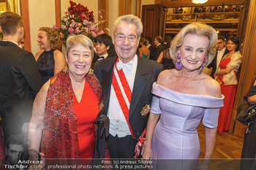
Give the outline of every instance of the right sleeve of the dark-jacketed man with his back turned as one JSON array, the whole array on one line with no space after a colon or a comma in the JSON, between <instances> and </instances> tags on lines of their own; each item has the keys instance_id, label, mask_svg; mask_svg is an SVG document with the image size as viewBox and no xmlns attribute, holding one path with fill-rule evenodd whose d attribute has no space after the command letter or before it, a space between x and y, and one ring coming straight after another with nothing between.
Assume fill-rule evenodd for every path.
<instances>
[{"instance_id":1,"label":"right sleeve of the dark-jacketed man with his back turned","mask_svg":"<svg viewBox=\"0 0 256 170\"><path fill-rule=\"evenodd\" d=\"M34 55L30 52L23 53L19 64L20 73L23 75L32 96L35 98L42 87L42 78L37 69Z\"/></svg>"}]
</instances>

